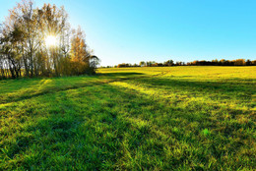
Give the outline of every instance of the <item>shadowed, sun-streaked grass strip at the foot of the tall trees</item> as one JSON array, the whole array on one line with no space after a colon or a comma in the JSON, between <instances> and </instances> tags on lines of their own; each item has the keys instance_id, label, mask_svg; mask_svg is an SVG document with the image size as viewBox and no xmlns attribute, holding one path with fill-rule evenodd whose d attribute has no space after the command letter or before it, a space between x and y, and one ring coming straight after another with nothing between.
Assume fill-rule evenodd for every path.
<instances>
[{"instance_id":1,"label":"shadowed, sun-streaked grass strip at the foot of the tall trees","mask_svg":"<svg viewBox=\"0 0 256 171\"><path fill-rule=\"evenodd\" d=\"M17 102L36 97L45 93L79 88L83 86L101 85L116 80L129 80L141 73L108 73L94 77L70 77L50 79L23 79L23 81L8 81L8 89L0 93L0 104ZM132 78L129 78L132 77ZM86 79L86 81L84 81ZM6 87L7 85L3 85Z\"/></svg>"}]
</instances>

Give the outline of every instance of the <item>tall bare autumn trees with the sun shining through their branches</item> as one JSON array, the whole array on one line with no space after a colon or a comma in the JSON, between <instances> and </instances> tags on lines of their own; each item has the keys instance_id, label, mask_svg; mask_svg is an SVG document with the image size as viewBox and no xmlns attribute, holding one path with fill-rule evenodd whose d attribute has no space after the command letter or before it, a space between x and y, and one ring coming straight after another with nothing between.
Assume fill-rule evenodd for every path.
<instances>
[{"instance_id":1,"label":"tall bare autumn trees with the sun shining through their branches","mask_svg":"<svg viewBox=\"0 0 256 171\"><path fill-rule=\"evenodd\" d=\"M34 8L23 0L0 26L0 79L93 74L92 55L81 28L72 29L64 7Z\"/></svg>"}]
</instances>

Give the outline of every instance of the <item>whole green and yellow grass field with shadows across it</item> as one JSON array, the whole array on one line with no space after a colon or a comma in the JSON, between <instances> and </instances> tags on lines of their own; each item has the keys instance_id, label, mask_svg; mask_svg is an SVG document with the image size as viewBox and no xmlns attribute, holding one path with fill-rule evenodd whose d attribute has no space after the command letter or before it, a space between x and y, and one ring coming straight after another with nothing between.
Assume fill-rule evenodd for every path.
<instances>
[{"instance_id":1,"label":"whole green and yellow grass field with shadows across it","mask_svg":"<svg viewBox=\"0 0 256 171\"><path fill-rule=\"evenodd\" d=\"M255 170L256 67L0 81L0 170Z\"/></svg>"}]
</instances>

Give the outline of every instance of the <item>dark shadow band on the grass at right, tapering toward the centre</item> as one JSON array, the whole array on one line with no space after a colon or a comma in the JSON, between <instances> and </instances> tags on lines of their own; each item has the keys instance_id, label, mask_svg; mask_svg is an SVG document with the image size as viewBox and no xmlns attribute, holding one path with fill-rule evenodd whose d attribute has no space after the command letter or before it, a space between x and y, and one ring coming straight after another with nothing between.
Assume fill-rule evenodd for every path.
<instances>
[{"instance_id":1,"label":"dark shadow band on the grass at right, tapering toward the centre","mask_svg":"<svg viewBox=\"0 0 256 171\"><path fill-rule=\"evenodd\" d=\"M188 91L195 93L196 96L210 94L213 98L218 99L220 95L224 98L234 98L239 101L252 101L252 95L256 93L255 82L256 80L221 80L221 81L208 81L208 82L195 82L192 80L181 79L165 79L165 78L151 78L133 80L136 84L154 86L163 89L176 89L180 91ZM245 82L245 83L243 83Z\"/></svg>"}]
</instances>

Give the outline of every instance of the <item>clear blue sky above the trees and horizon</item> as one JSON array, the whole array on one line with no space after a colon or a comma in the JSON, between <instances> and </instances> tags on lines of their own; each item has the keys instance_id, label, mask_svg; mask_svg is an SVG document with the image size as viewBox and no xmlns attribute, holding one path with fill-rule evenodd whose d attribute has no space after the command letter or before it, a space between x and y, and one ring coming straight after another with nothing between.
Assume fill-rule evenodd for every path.
<instances>
[{"instance_id":1,"label":"clear blue sky above the trees and horizon","mask_svg":"<svg viewBox=\"0 0 256 171\"><path fill-rule=\"evenodd\" d=\"M0 0L0 22L17 1ZM18 1L19 2L19 1ZM255 0L34 0L63 5L101 65L256 59Z\"/></svg>"}]
</instances>

